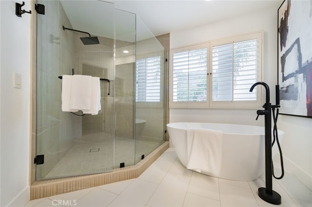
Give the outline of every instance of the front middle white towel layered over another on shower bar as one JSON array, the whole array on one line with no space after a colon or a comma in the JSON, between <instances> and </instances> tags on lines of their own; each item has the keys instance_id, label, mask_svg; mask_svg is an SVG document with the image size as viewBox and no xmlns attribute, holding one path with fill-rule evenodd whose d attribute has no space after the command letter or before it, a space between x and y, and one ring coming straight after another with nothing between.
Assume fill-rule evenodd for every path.
<instances>
[{"instance_id":1,"label":"front middle white towel layered over another on shower bar","mask_svg":"<svg viewBox=\"0 0 312 207\"><path fill-rule=\"evenodd\" d=\"M70 110L89 110L91 107L91 76L73 75Z\"/></svg>"}]
</instances>

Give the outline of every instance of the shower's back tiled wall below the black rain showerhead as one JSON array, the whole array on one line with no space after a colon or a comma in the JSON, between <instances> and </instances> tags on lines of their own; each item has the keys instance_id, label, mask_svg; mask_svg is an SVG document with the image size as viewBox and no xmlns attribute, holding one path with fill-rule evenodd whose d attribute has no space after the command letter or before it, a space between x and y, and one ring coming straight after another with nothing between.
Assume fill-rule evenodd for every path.
<instances>
[{"instance_id":1,"label":"shower's back tiled wall below the black rain showerhead","mask_svg":"<svg viewBox=\"0 0 312 207\"><path fill-rule=\"evenodd\" d=\"M75 144L111 140L114 138L114 39L98 37L100 44L84 45L79 37L85 35L76 33L74 37L75 73L110 79L111 91L108 95L109 83L100 81L101 110L98 115L82 116L82 136L75 140Z\"/></svg>"}]
</instances>

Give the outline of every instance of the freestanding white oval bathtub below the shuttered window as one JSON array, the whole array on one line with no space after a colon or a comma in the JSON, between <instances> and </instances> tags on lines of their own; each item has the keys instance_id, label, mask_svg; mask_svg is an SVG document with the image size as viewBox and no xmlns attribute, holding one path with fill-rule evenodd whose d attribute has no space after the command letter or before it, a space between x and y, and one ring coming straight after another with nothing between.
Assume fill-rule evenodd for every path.
<instances>
[{"instance_id":1,"label":"freestanding white oval bathtub below the shuttered window","mask_svg":"<svg viewBox=\"0 0 312 207\"><path fill-rule=\"evenodd\" d=\"M264 127L187 122L167 124L170 141L184 167L187 166L188 162L186 141L188 128L222 131L220 173L217 175L205 171L201 171L201 173L229 180L252 181L265 171ZM279 141L282 140L283 134L284 132L278 130ZM276 152L277 147L274 144L272 157Z\"/></svg>"}]
</instances>

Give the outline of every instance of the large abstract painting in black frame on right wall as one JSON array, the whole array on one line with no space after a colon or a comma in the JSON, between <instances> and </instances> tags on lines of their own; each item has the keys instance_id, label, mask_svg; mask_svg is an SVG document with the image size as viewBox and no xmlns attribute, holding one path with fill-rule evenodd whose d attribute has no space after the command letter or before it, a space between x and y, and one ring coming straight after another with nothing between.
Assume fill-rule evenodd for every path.
<instances>
[{"instance_id":1,"label":"large abstract painting in black frame on right wall","mask_svg":"<svg viewBox=\"0 0 312 207\"><path fill-rule=\"evenodd\" d=\"M312 0L278 8L279 112L312 118Z\"/></svg>"}]
</instances>

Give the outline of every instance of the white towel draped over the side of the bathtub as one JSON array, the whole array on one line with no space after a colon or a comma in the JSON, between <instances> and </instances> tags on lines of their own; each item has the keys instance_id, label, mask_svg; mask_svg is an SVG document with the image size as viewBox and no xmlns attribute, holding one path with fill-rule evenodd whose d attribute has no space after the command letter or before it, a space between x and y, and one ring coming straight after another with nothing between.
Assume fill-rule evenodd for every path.
<instances>
[{"instance_id":1,"label":"white towel draped over the side of the bathtub","mask_svg":"<svg viewBox=\"0 0 312 207\"><path fill-rule=\"evenodd\" d=\"M188 129L187 169L207 171L218 176L222 160L222 131Z\"/></svg>"}]
</instances>

